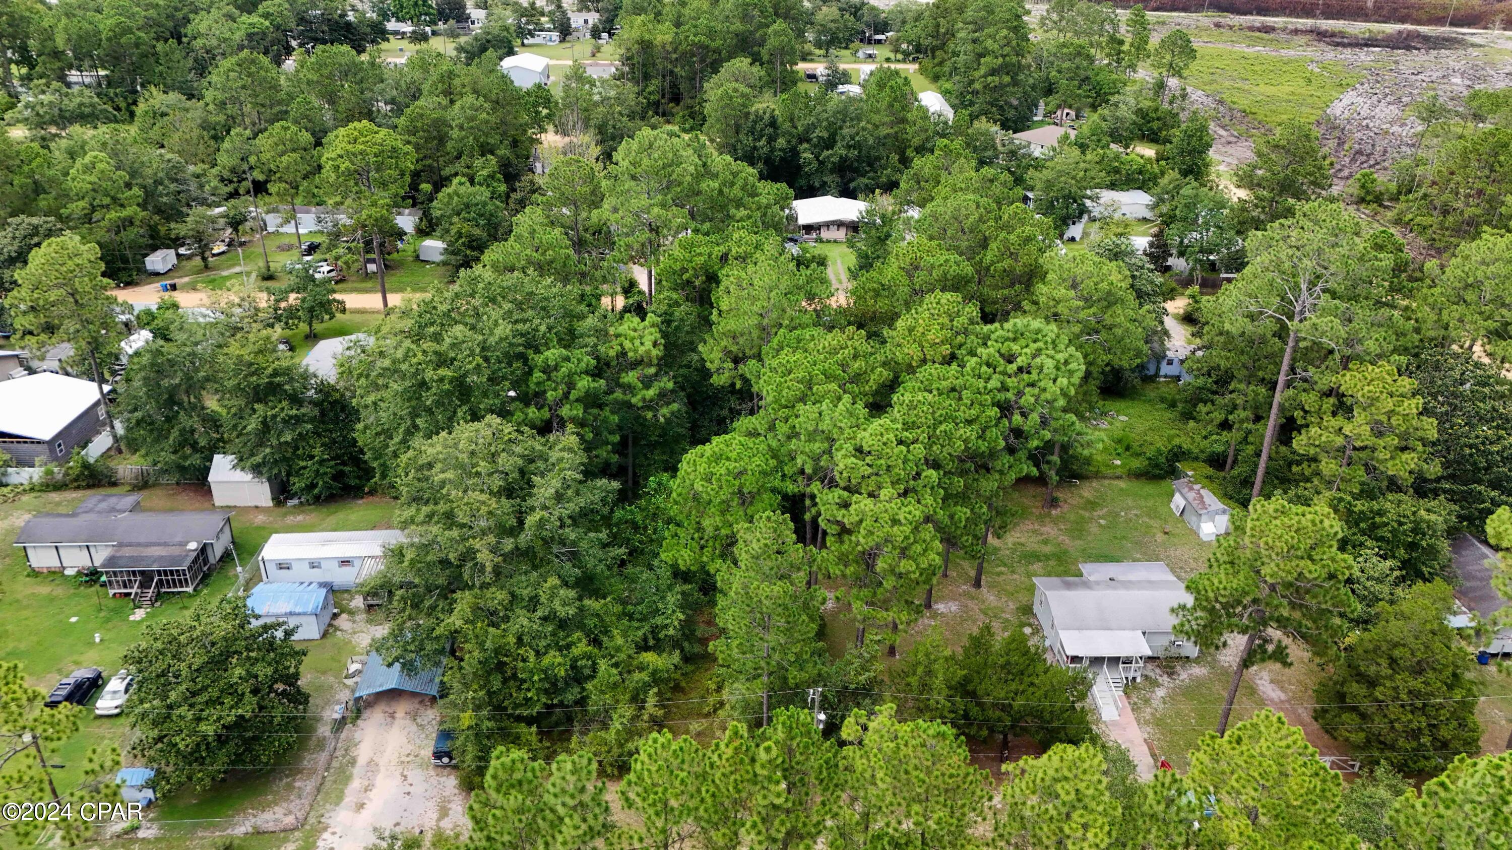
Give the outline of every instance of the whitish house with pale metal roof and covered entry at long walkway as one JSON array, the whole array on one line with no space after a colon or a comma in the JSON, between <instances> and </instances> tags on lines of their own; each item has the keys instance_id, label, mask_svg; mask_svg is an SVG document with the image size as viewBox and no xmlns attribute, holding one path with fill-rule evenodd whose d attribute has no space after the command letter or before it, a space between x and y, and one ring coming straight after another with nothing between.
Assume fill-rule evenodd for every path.
<instances>
[{"instance_id":1,"label":"whitish house with pale metal roof and covered entry at long walkway","mask_svg":"<svg viewBox=\"0 0 1512 850\"><path fill-rule=\"evenodd\" d=\"M1196 658L1175 634L1172 608L1191 594L1158 561L1081 564L1081 578L1034 579L1034 616L1055 662L1093 676L1093 700L1108 718L1117 693L1145 673L1146 658Z\"/></svg>"}]
</instances>

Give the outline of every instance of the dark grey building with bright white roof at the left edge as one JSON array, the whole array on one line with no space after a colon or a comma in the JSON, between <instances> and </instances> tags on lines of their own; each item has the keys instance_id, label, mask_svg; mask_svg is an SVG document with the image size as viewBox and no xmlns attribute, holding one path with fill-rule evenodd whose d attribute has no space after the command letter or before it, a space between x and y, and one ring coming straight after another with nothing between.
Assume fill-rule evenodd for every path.
<instances>
[{"instance_id":1,"label":"dark grey building with bright white roof at the left edge","mask_svg":"<svg viewBox=\"0 0 1512 850\"><path fill-rule=\"evenodd\" d=\"M15 466L62 464L104 430L104 405L94 381L54 372L0 381L0 452Z\"/></svg>"}]
</instances>

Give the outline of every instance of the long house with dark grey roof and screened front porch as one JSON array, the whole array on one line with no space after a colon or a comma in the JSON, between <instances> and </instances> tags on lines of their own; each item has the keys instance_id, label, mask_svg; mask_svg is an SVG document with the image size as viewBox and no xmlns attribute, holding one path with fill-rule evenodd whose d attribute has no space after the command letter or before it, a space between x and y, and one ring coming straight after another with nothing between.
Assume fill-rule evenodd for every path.
<instances>
[{"instance_id":1,"label":"long house with dark grey roof and screened front porch","mask_svg":"<svg viewBox=\"0 0 1512 850\"><path fill-rule=\"evenodd\" d=\"M151 605L159 593L200 587L231 548L231 514L136 510L36 514L21 526L14 546L26 552L33 570L100 570L112 594L130 594L138 605Z\"/></svg>"}]
</instances>

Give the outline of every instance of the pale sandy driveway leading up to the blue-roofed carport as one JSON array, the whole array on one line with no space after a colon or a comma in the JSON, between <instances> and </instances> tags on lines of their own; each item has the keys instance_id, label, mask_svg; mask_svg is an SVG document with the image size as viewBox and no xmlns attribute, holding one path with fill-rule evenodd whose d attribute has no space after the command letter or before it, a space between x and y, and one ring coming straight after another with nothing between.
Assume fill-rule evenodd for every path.
<instances>
[{"instance_id":1,"label":"pale sandy driveway leading up to the blue-roofed carport","mask_svg":"<svg viewBox=\"0 0 1512 850\"><path fill-rule=\"evenodd\" d=\"M457 771L431 765L435 705L402 691L376 694L348 729L357 764L342 802L325 815L319 850L366 847L378 827L463 830L467 797Z\"/></svg>"}]
</instances>

